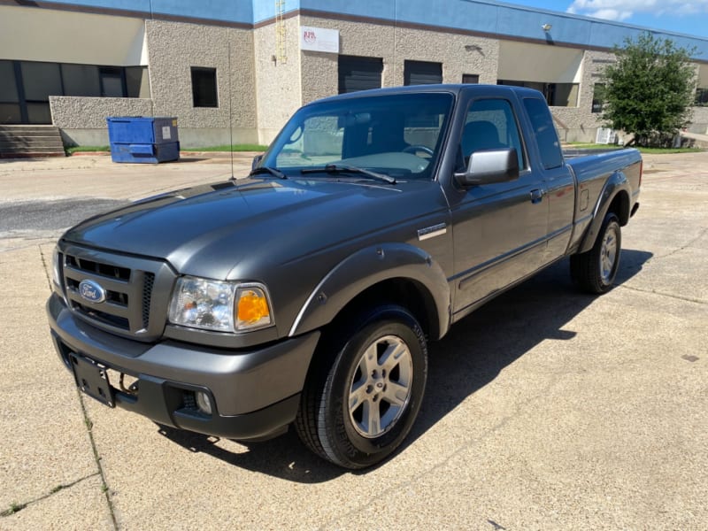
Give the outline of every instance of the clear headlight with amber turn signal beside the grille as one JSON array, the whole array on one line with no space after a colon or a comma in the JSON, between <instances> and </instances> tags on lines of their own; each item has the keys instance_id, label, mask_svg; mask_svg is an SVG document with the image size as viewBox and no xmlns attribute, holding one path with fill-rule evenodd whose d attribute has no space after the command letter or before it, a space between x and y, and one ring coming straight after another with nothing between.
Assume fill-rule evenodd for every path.
<instances>
[{"instance_id":1,"label":"clear headlight with amber turn signal beside the grille","mask_svg":"<svg viewBox=\"0 0 708 531\"><path fill-rule=\"evenodd\" d=\"M266 287L181 277L170 303L175 325L218 332L245 332L273 324Z\"/></svg>"}]
</instances>

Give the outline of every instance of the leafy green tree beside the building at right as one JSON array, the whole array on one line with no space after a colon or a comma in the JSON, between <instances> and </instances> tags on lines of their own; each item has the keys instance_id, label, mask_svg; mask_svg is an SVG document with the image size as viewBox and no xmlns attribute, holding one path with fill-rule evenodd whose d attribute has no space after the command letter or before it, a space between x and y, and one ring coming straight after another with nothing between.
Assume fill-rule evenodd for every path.
<instances>
[{"instance_id":1,"label":"leafy green tree beside the building at right","mask_svg":"<svg viewBox=\"0 0 708 531\"><path fill-rule=\"evenodd\" d=\"M662 145L688 123L696 91L695 49L649 32L615 46L617 62L604 69L605 119L634 135L639 146Z\"/></svg>"}]
</instances>

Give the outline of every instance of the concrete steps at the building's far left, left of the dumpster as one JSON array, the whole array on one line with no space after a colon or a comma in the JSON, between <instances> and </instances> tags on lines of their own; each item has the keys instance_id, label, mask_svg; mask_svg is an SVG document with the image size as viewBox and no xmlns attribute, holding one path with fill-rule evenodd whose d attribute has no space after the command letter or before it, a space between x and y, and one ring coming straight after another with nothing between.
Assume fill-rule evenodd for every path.
<instances>
[{"instance_id":1,"label":"concrete steps at the building's far left, left of the dumpster","mask_svg":"<svg viewBox=\"0 0 708 531\"><path fill-rule=\"evenodd\" d=\"M58 127L0 125L0 158L65 157Z\"/></svg>"}]
</instances>

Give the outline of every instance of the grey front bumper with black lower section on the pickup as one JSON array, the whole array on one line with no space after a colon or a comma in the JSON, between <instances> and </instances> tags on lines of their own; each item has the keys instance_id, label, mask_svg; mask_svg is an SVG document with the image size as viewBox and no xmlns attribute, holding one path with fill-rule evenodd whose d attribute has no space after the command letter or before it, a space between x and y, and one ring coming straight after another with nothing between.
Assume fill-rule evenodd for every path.
<instances>
[{"instance_id":1,"label":"grey front bumper with black lower section on the pickup","mask_svg":"<svg viewBox=\"0 0 708 531\"><path fill-rule=\"evenodd\" d=\"M76 318L57 294L47 301L51 336L59 358L89 358L137 379L137 392L118 389L114 402L159 424L230 439L277 435L297 413L299 395L319 332L271 343L257 350L224 350L187 342L137 342L109 334ZM202 391L212 414L193 407Z\"/></svg>"}]
</instances>

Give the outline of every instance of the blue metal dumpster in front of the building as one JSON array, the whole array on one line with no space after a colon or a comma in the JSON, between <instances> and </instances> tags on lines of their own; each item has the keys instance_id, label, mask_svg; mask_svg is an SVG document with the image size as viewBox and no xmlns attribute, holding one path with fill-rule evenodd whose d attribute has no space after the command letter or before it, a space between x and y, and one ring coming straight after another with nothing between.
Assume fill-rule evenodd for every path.
<instances>
[{"instance_id":1,"label":"blue metal dumpster in front of the building","mask_svg":"<svg viewBox=\"0 0 708 531\"><path fill-rule=\"evenodd\" d=\"M180 158L176 118L106 118L113 162L157 164Z\"/></svg>"}]
</instances>

